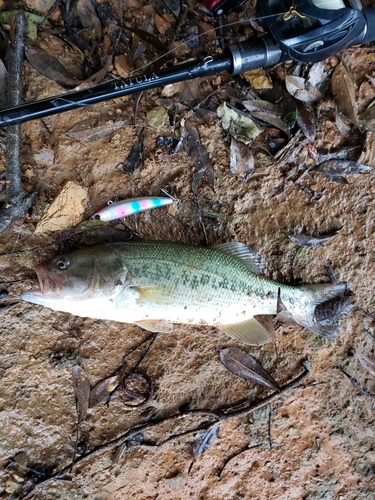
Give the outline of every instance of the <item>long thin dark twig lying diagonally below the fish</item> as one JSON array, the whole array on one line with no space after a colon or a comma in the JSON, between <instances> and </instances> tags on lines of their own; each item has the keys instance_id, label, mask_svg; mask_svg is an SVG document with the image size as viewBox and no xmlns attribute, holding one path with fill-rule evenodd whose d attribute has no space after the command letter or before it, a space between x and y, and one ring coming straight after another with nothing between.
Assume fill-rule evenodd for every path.
<instances>
[{"instance_id":1,"label":"long thin dark twig lying diagonally below the fish","mask_svg":"<svg viewBox=\"0 0 375 500\"><path fill-rule=\"evenodd\" d=\"M39 483L36 483L34 486L34 489L30 491L26 496L22 497L22 500L26 500L29 498L32 498L34 494L36 494L38 491L40 491L47 483L53 480L61 479L66 472L68 472L72 466L76 466L77 464L84 462L88 458L95 457L96 455L99 455L105 450L115 448L115 447L121 447L123 445L126 445L126 443L129 443L130 441L134 441L136 436L139 436L141 432L144 431L149 431L155 427L157 427L160 424L164 424L166 422L173 422L174 420L181 419L184 416L190 416L190 415L200 415L202 417L207 417L208 420L205 420L201 424L199 424L195 429L190 429L188 431L184 432L178 432L176 434L171 434L168 436L166 439L160 441L159 443L155 443L154 446L160 446L176 437L188 434L193 431L199 431L202 429L209 429L210 427L214 426L217 424L219 421L225 421L229 420L232 418L239 418L242 417L246 414L248 414L251 411L255 411L259 408L262 408L263 406L269 404L270 401L280 397L281 394L285 394L288 390L298 386L301 384L301 382L309 375L309 371L305 368L303 373L296 377L294 380L292 380L289 384L286 384L284 387L281 388L280 392L274 392L270 396L267 396L266 398L262 399L261 401L257 402L251 402L247 401L247 405L242 404L240 405L240 409L235 409L238 408L239 405L236 405L235 407L231 408L226 408L226 409L219 409L216 411L212 410L187 410L184 413L178 413L174 415L170 415L169 417L166 418L161 418L160 420L155 420L152 423L144 423L144 424L138 424L132 427L131 429L128 429L125 434L122 436L119 436L116 439L113 439L112 441L109 441L107 443L104 443L100 446L97 446L93 450L85 453L84 455L81 455L80 457L76 458L74 462L68 464L66 467L60 469L58 472L53 474L51 477L44 479L43 481L40 481ZM232 410L232 411L231 411ZM139 442L139 441L138 441ZM147 442L147 444L150 446L151 443Z\"/></svg>"}]
</instances>

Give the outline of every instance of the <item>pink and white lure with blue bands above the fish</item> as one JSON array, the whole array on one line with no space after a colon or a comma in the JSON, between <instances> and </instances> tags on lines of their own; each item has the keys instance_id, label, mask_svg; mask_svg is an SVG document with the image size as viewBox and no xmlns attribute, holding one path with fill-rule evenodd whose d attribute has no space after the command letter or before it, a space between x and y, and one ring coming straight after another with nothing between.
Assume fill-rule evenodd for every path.
<instances>
[{"instance_id":1,"label":"pink and white lure with blue bands above the fish","mask_svg":"<svg viewBox=\"0 0 375 500\"><path fill-rule=\"evenodd\" d=\"M111 220L121 219L123 217L128 217L129 215L138 214L144 212L145 210L151 210L152 208L164 207L165 205L171 205L175 203L176 199L173 197L165 196L150 196L144 198L130 198L129 200L117 201L116 203L108 204L106 207L101 208L91 219L102 220L108 222Z\"/></svg>"}]
</instances>

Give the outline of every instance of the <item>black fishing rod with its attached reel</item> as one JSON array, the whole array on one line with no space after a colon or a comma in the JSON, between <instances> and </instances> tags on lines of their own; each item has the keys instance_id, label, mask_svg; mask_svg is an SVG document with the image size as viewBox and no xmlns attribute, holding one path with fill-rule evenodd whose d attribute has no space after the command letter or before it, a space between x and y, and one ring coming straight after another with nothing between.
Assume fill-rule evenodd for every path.
<instances>
[{"instance_id":1,"label":"black fishing rod with its attached reel","mask_svg":"<svg viewBox=\"0 0 375 500\"><path fill-rule=\"evenodd\" d=\"M243 0L205 3L221 15ZM315 63L352 45L375 41L375 7L362 7L359 0L259 0L256 20L266 34L231 45L220 56L4 109L0 111L0 127L222 71L237 75L286 59Z\"/></svg>"}]
</instances>

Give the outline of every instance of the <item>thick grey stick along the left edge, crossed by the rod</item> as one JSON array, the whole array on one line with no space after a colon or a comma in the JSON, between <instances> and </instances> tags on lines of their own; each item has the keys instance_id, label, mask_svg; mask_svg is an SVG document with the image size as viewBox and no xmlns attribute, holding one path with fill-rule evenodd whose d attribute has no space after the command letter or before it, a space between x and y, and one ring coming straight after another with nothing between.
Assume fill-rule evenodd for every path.
<instances>
[{"instance_id":1,"label":"thick grey stick along the left edge, crossed by the rod","mask_svg":"<svg viewBox=\"0 0 375 500\"><path fill-rule=\"evenodd\" d=\"M23 43L26 20L22 12L14 18L14 40L8 53L8 107L18 106L22 92ZM22 187L20 166L21 124L11 125L7 129L6 143L6 178L8 205L0 210L0 233L5 231L13 221L24 217L31 207L36 193L29 194Z\"/></svg>"}]
</instances>

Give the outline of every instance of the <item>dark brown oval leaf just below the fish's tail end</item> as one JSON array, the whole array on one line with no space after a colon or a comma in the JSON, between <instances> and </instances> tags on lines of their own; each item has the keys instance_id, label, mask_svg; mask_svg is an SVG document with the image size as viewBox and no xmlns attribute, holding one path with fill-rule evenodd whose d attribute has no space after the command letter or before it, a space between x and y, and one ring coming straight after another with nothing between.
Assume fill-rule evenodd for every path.
<instances>
[{"instance_id":1,"label":"dark brown oval leaf just below the fish's tail end","mask_svg":"<svg viewBox=\"0 0 375 500\"><path fill-rule=\"evenodd\" d=\"M250 354L237 347L220 351L220 360L227 370L234 375L251 380L268 389L280 391L280 386L271 375Z\"/></svg>"}]
</instances>

